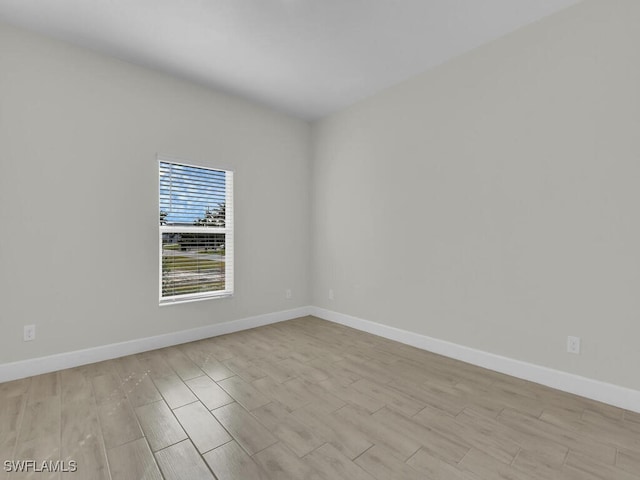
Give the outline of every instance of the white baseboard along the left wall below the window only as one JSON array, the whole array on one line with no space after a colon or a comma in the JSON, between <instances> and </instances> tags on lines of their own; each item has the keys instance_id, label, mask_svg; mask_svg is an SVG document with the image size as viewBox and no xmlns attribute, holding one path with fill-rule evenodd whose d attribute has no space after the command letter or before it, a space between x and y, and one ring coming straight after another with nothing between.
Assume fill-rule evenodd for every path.
<instances>
[{"instance_id":1,"label":"white baseboard along the left wall below the window only","mask_svg":"<svg viewBox=\"0 0 640 480\"><path fill-rule=\"evenodd\" d=\"M59 353L46 357L32 358L12 363L0 364L0 382L55 372L65 368L78 367L88 363L110 360L112 358L146 352L156 348L170 347L181 343L193 342L203 338L216 337L227 333L239 332L249 328L261 327L310 314L309 307L294 308L280 312L257 315L224 323L207 325L206 327L166 333L154 337L139 338L122 343L112 343L99 347Z\"/></svg>"}]
</instances>

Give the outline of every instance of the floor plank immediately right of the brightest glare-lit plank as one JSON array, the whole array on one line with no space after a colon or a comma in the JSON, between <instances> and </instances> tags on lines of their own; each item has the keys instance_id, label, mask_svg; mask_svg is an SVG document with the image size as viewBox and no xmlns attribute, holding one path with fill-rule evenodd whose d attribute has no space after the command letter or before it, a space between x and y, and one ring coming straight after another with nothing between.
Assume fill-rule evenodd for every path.
<instances>
[{"instance_id":1,"label":"floor plank immediately right of the brightest glare-lit plank","mask_svg":"<svg viewBox=\"0 0 640 480\"><path fill-rule=\"evenodd\" d=\"M230 403L213 410L212 413L250 455L278 441L238 403Z\"/></svg>"}]
</instances>

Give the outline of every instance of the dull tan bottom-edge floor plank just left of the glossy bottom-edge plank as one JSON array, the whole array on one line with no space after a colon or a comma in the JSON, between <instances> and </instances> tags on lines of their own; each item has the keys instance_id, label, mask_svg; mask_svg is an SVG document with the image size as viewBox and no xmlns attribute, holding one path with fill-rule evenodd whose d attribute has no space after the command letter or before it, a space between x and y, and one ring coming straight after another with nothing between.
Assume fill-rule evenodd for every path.
<instances>
[{"instance_id":1,"label":"dull tan bottom-edge floor plank just left of the glossy bottom-edge plank","mask_svg":"<svg viewBox=\"0 0 640 480\"><path fill-rule=\"evenodd\" d=\"M144 438L107 450L107 457L113 480L163 480Z\"/></svg>"}]
</instances>

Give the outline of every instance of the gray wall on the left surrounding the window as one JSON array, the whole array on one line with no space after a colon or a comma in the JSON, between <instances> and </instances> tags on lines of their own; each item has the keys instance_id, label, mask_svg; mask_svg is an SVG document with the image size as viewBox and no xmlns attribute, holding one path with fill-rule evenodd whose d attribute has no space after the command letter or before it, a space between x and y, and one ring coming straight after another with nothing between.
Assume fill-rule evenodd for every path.
<instances>
[{"instance_id":1,"label":"gray wall on the left surrounding the window","mask_svg":"<svg viewBox=\"0 0 640 480\"><path fill-rule=\"evenodd\" d=\"M157 153L235 171L235 297L158 306ZM309 159L305 122L0 25L0 363L308 305Z\"/></svg>"}]
</instances>

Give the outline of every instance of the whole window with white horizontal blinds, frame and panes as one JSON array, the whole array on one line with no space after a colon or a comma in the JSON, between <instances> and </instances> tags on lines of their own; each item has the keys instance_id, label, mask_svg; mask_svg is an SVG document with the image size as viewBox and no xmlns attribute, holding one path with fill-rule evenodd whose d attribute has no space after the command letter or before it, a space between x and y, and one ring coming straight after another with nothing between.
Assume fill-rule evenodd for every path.
<instances>
[{"instance_id":1,"label":"whole window with white horizontal blinds, frame and panes","mask_svg":"<svg viewBox=\"0 0 640 480\"><path fill-rule=\"evenodd\" d=\"M159 159L160 303L233 293L233 172Z\"/></svg>"}]
</instances>

